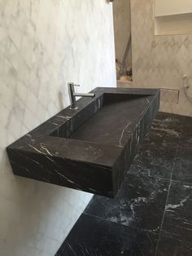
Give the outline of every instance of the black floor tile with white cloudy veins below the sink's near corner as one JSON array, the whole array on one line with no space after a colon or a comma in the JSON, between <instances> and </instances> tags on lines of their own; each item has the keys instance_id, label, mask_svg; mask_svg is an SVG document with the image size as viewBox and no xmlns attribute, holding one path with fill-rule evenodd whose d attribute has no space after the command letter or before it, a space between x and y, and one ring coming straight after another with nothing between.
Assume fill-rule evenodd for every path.
<instances>
[{"instance_id":1,"label":"black floor tile with white cloudy veins below the sink's near corner","mask_svg":"<svg viewBox=\"0 0 192 256\"><path fill-rule=\"evenodd\" d=\"M128 174L115 199L94 196L85 213L125 226L159 232L168 184L166 179Z\"/></svg>"}]
</instances>

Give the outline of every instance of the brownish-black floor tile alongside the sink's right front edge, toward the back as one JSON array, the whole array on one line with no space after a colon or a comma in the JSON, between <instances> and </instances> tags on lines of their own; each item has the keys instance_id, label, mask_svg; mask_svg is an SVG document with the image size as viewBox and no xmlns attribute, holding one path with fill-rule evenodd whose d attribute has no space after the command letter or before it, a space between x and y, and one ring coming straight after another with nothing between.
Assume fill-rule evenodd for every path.
<instances>
[{"instance_id":1,"label":"brownish-black floor tile alongside the sink's right front edge, toward the back","mask_svg":"<svg viewBox=\"0 0 192 256\"><path fill-rule=\"evenodd\" d=\"M140 172L170 179L181 137L183 118L158 113L129 173Z\"/></svg>"}]
</instances>

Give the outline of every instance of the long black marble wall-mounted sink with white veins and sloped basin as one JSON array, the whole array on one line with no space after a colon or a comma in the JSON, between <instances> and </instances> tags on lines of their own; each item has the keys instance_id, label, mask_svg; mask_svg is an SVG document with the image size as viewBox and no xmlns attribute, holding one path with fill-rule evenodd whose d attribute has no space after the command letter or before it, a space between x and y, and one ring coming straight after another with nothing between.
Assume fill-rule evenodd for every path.
<instances>
[{"instance_id":1,"label":"long black marble wall-mounted sink with white veins and sloped basin","mask_svg":"<svg viewBox=\"0 0 192 256\"><path fill-rule=\"evenodd\" d=\"M14 174L114 197L159 109L159 90L98 87L7 147Z\"/></svg>"}]
</instances>

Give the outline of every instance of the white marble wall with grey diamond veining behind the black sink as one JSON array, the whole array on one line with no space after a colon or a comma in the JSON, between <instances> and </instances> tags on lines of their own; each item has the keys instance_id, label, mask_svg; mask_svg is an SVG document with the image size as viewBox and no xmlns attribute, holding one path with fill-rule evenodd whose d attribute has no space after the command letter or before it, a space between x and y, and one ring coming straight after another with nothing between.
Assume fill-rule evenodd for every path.
<instances>
[{"instance_id":1,"label":"white marble wall with grey diamond veining behind the black sink","mask_svg":"<svg viewBox=\"0 0 192 256\"><path fill-rule=\"evenodd\" d=\"M5 148L69 104L67 82L116 85L112 5L0 0L0 10L0 255L54 256L92 195L16 177Z\"/></svg>"}]
</instances>

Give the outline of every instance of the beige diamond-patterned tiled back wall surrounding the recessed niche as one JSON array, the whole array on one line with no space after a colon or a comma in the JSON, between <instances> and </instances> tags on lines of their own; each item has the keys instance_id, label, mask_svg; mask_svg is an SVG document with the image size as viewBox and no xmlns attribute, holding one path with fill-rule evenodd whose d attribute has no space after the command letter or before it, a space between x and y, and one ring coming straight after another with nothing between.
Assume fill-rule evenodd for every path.
<instances>
[{"instance_id":1,"label":"beige diamond-patterned tiled back wall surrounding the recessed niche","mask_svg":"<svg viewBox=\"0 0 192 256\"><path fill-rule=\"evenodd\" d=\"M192 116L192 104L183 90L187 74L192 97L192 35L155 36L155 0L133 0L133 85L180 90L179 103L161 103L161 111Z\"/></svg>"}]
</instances>

